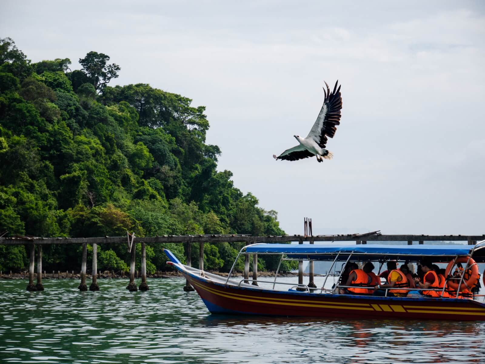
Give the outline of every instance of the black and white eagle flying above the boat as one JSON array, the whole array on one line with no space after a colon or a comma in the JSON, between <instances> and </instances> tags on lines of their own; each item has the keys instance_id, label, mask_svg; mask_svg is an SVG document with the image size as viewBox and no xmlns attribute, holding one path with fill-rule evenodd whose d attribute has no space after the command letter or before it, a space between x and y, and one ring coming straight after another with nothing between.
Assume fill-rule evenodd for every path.
<instances>
[{"instance_id":1,"label":"black and white eagle flying above the boat","mask_svg":"<svg viewBox=\"0 0 485 364\"><path fill-rule=\"evenodd\" d=\"M325 81L323 81L325 82ZM325 98L323 99L322 110L317 116L317 120L306 138L302 138L299 135L293 135L299 142L297 146L285 150L278 157L273 155L275 159L284 160L298 160L308 157L316 156L319 162L323 162L323 159L332 159L333 154L325 149L327 143L327 137L333 138L336 125L340 125L340 110L342 109L342 97L340 95L340 86L337 88L339 80L335 82L334 90L330 93L328 84L325 82L325 88L323 93Z\"/></svg>"}]
</instances>

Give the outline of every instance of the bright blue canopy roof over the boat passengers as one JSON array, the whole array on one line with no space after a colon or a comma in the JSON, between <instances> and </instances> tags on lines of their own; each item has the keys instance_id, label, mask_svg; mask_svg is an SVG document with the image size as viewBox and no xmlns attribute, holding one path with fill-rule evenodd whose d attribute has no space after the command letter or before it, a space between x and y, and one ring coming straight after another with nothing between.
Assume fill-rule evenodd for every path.
<instances>
[{"instance_id":1,"label":"bright blue canopy roof over the boat passengers","mask_svg":"<svg viewBox=\"0 0 485 364\"><path fill-rule=\"evenodd\" d=\"M456 255L469 255L472 249L469 245L254 244L246 248L246 253L286 254L288 258L312 260L333 260L337 253L340 253L339 260L346 260L349 253L352 253L352 259L361 260L417 261L429 256L435 262L448 262ZM485 261L484 251L481 247L475 250L473 258L476 262Z\"/></svg>"}]
</instances>

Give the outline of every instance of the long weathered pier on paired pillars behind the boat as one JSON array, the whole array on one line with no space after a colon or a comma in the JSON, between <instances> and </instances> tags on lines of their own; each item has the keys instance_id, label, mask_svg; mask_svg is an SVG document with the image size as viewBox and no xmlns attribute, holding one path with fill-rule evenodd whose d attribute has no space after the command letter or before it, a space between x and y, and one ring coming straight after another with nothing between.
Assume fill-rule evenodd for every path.
<instances>
[{"instance_id":1,"label":"long weathered pier on paired pillars behind the boat","mask_svg":"<svg viewBox=\"0 0 485 364\"><path fill-rule=\"evenodd\" d=\"M305 231L307 233L307 230ZM79 290L86 291L86 255L87 244L93 246L93 267L92 279L93 282L89 289L91 291L99 290L97 285L97 244L126 244L128 239L128 251L131 253L130 269L129 269L129 285L127 289L130 291L147 291L149 289L146 284L146 248L145 244L150 243L186 243L187 265L191 266L191 247L192 243L199 243L199 268L204 269L204 243L205 242L244 242L246 245L255 243L282 243L282 242L298 242L303 244L305 241L313 244L314 242L335 242L335 241L355 241L356 244L367 244L372 241L406 241L408 245L412 245L417 241L419 244L424 244L425 241L467 241L469 245L476 244L479 240L485 240L484 235L383 235L379 232L372 232L367 234L347 234L347 235L288 235L288 236L251 236L251 235L169 235L157 237L136 237L136 240L141 242L141 276L142 282L139 287L135 285L135 236L128 234L128 237L1 237L0 245L27 245L30 248L30 265L29 265L29 284L27 290L36 291L43 290L42 285L42 246L52 244L82 244L82 260L81 260L81 284ZM35 246L37 245L37 285L33 284L34 277L34 260L35 260ZM59 274L59 273L58 273ZM54 275L54 273L52 273ZM245 255L244 260L244 279L249 282L249 255ZM67 277L67 273L66 273ZM253 256L253 285L258 285L258 257ZM303 283L303 264L298 264L298 283ZM310 266L309 285L313 286L313 265ZM184 286L185 291L193 291L194 288L187 284Z\"/></svg>"}]
</instances>

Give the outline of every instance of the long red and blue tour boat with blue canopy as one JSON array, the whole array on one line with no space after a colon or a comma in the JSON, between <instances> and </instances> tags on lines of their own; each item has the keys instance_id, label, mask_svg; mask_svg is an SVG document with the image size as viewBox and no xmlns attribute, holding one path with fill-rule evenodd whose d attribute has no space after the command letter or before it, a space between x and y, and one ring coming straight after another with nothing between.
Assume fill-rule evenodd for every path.
<instances>
[{"instance_id":1,"label":"long red and blue tour boat with blue canopy","mask_svg":"<svg viewBox=\"0 0 485 364\"><path fill-rule=\"evenodd\" d=\"M278 254L281 260L378 261L397 260L418 262L423 257L436 263L448 263L459 257L471 257L475 262L485 261L485 240L475 246L458 245L318 245L318 244L253 244L242 248L240 254ZM268 315L293 317L336 317L358 319L437 319L485 320L485 303L480 298L411 298L376 297L337 294L333 290L311 290L306 285L270 281L273 288L251 285L229 276L201 271L183 265L177 257L165 250L169 264L178 269L194 286L212 314ZM238 255L239 257L239 255ZM236 258L237 259L237 258ZM280 261L281 262L281 261ZM234 267L234 265L233 265ZM278 267L279 269L279 267ZM277 272L276 272L277 275ZM246 282L246 283L245 283ZM261 282L259 280L258 282ZM461 282L460 282L461 283ZM278 285L279 289L275 289ZM285 287L284 290L281 286ZM304 291L298 291L299 286Z\"/></svg>"}]
</instances>

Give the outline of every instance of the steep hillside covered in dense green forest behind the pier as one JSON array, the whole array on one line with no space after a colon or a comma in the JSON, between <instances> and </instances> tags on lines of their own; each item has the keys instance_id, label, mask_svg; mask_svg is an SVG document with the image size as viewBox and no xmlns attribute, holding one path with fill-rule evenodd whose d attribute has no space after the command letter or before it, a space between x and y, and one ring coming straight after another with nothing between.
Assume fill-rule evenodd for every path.
<instances>
[{"instance_id":1,"label":"steep hillside covered in dense green forest behind the pier","mask_svg":"<svg viewBox=\"0 0 485 364\"><path fill-rule=\"evenodd\" d=\"M89 52L80 70L67 58L32 63L0 39L0 235L284 234L275 211L217 172L205 107L149 84L111 87L121 68L109 60ZM162 247L147 247L149 272L166 269ZM185 260L182 244L165 247ZM78 267L80 249L46 246L43 267ZM205 268L227 271L239 249L206 244ZM196 266L198 244L192 252ZM0 246L2 270L27 259L23 246ZM98 260L128 270L126 245L102 245ZM259 269L276 264L259 259Z\"/></svg>"}]
</instances>

